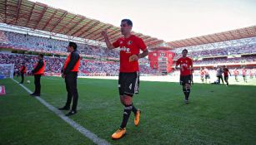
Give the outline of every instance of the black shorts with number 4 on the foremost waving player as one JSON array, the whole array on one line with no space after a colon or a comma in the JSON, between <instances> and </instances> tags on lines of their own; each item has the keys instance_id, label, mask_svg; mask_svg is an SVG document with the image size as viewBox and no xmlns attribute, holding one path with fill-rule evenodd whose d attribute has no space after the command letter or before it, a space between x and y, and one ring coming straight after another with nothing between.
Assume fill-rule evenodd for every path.
<instances>
[{"instance_id":1,"label":"black shorts with number 4 on the foremost waving player","mask_svg":"<svg viewBox=\"0 0 256 145\"><path fill-rule=\"evenodd\" d=\"M138 94L139 74L138 72L132 73L119 73L118 88L120 95L128 95L133 97L133 94Z\"/></svg>"}]
</instances>

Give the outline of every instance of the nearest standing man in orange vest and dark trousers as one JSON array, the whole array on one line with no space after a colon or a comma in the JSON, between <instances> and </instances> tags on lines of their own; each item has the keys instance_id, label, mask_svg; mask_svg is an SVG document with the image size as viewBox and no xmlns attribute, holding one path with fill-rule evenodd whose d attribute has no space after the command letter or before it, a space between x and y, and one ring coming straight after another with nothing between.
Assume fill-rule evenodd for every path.
<instances>
[{"instance_id":1,"label":"nearest standing man in orange vest and dark trousers","mask_svg":"<svg viewBox=\"0 0 256 145\"><path fill-rule=\"evenodd\" d=\"M80 66L80 56L77 51L77 44L74 42L69 42L67 50L70 54L67 57L65 64L63 65L62 77L65 79L66 89L68 92L67 102L63 108L60 110L69 110L70 104L73 99L72 109L69 111L66 116L77 114L78 106L78 89L77 89L77 80L78 80L78 70Z\"/></svg>"}]
</instances>

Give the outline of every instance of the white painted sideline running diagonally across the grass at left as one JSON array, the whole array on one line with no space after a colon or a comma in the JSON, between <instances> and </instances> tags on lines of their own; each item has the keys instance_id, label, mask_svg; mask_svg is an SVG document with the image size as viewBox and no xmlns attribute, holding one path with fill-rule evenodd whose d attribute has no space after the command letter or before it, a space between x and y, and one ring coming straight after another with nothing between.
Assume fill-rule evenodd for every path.
<instances>
[{"instance_id":1,"label":"white painted sideline running diagonally across the grass at left","mask_svg":"<svg viewBox=\"0 0 256 145\"><path fill-rule=\"evenodd\" d=\"M18 83L17 80L13 80L13 81ZM33 93L31 90L29 90L24 85L22 85L22 84L18 84L18 85L22 86L23 89L26 89L29 94ZM68 118L67 116L65 116L65 114L63 114L60 110L58 110L55 107L53 107L53 105L48 104L48 102L46 102L44 99L42 99L42 98L40 98L38 96L36 96L35 98L38 99L38 101L40 101L41 104L45 105L48 109L52 110L53 113L57 114L58 117L62 118L65 122L67 122L73 128L77 129L78 132L83 134L83 136L85 136L86 138L89 138L90 140L92 140L93 143L96 143L96 144L99 144L99 145L105 145L105 144L109 144L110 145L110 143L108 143L106 140L104 140L102 138L98 138L98 136L96 134L90 132L87 128L83 128L83 126L81 126L80 124L78 124L75 121L73 121L73 119Z\"/></svg>"}]
</instances>

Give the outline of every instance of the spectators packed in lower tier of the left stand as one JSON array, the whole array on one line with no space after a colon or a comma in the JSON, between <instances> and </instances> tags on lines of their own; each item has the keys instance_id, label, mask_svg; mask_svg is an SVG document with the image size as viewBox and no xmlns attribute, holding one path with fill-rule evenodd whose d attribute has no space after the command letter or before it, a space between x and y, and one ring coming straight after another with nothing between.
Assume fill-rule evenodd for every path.
<instances>
[{"instance_id":1,"label":"spectators packed in lower tier of the left stand","mask_svg":"<svg viewBox=\"0 0 256 145\"><path fill-rule=\"evenodd\" d=\"M37 56L33 55L0 53L0 64L14 64L14 70L16 71L19 70L23 62L26 64L28 71L33 70L33 66L36 65L37 60ZM45 56L44 60L46 63L46 73L60 74L65 58ZM118 75L118 69L119 62L115 61L81 60L79 75ZM140 73L153 75L156 73L156 70L152 70L150 66L140 63Z\"/></svg>"}]
</instances>

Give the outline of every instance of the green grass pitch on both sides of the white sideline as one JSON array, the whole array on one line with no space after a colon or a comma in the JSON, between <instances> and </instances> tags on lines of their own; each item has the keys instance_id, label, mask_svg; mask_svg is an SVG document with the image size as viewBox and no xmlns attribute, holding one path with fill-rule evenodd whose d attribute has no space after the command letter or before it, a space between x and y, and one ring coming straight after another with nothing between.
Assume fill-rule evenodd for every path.
<instances>
[{"instance_id":1,"label":"green grass pitch on both sides of the white sideline","mask_svg":"<svg viewBox=\"0 0 256 145\"><path fill-rule=\"evenodd\" d=\"M33 91L31 84L24 84ZM42 96L63 107L64 80L43 77ZM255 81L255 80L253 80ZM71 118L111 144L253 144L256 143L256 89L246 85L195 84L190 104L183 104L178 83L141 81L133 104L142 110L141 123L112 140L123 118L118 80L78 79L78 114ZM0 80L0 144L93 144L48 110L13 80ZM68 111L63 111L68 113Z\"/></svg>"}]
</instances>

